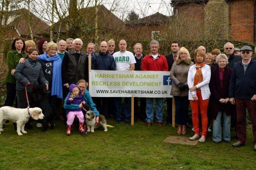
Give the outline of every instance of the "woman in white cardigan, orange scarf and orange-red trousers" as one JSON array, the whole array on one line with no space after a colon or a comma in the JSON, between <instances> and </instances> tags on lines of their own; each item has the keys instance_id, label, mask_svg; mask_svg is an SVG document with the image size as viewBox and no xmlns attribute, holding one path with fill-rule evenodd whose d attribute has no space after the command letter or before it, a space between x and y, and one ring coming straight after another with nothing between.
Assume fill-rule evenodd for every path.
<instances>
[{"instance_id":1,"label":"woman in white cardigan, orange scarf and orange-red trousers","mask_svg":"<svg viewBox=\"0 0 256 170\"><path fill-rule=\"evenodd\" d=\"M207 108L211 95L209 83L211 79L211 68L205 64L205 52L197 49L195 51L194 60L196 64L192 65L188 70L188 100L190 101L192 111L192 122L195 135L190 140L199 138L199 110L202 119L202 137L199 142L204 142L207 135ZM200 109L199 109L200 108Z\"/></svg>"}]
</instances>

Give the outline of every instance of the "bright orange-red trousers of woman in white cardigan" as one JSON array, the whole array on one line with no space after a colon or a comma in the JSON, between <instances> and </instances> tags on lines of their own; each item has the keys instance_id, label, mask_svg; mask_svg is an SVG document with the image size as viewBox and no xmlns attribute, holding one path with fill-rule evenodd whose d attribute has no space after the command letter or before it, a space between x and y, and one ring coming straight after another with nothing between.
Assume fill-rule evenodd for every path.
<instances>
[{"instance_id":1,"label":"bright orange-red trousers of woman in white cardigan","mask_svg":"<svg viewBox=\"0 0 256 170\"><path fill-rule=\"evenodd\" d=\"M196 95L198 100L189 100L191 111L192 111L192 122L195 134L199 135L199 110L202 118L202 136L207 134L208 118L207 118L207 108L209 99L203 100L201 95L201 90L196 90Z\"/></svg>"}]
</instances>

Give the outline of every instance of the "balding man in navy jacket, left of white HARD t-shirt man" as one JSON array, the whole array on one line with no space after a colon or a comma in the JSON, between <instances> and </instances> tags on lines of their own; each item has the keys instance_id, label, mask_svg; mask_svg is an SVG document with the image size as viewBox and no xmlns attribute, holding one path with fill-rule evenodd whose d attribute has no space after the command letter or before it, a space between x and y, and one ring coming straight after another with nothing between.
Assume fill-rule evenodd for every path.
<instances>
[{"instance_id":1,"label":"balding man in navy jacket, left of white HARD t-shirt man","mask_svg":"<svg viewBox=\"0 0 256 170\"><path fill-rule=\"evenodd\" d=\"M112 55L107 53L108 43L102 41L100 43L100 52L92 56L92 70L116 70L116 63ZM107 118L108 103L111 98L108 97L94 97L93 101L96 108L102 115Z\"/></svg>"}]
</instances>

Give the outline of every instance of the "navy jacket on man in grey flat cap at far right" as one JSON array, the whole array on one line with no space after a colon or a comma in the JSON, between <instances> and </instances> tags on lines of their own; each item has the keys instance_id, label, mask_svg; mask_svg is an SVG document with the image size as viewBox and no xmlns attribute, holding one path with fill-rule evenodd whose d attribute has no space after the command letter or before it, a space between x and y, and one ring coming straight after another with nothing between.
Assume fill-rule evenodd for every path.
<instances>
[{"instance_id":1,"label":"navy jacket on man in grey flat cap at far right","mask_svg":"<svg viewBox=\"0 0 256 170\"><path fill-rule=\"evenodd\" d=\"M256 94L256 61L252 58L245 73L242 61L234 65L228 97L251 100L254 94Z\"/></svg>"}]
</instances>

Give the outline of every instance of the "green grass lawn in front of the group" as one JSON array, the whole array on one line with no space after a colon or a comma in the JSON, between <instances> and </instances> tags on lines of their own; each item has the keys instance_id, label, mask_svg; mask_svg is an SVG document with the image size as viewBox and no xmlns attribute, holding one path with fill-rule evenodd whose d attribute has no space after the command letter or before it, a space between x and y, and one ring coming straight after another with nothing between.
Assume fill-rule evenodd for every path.
<instances>
[{"instance_id":1,"label":"green grass lawn in front of the group","mask_svg":"<svg viewBox=\"0 0 256 170\"><path fill-rule=\"evenodd\" d=\"M146 127L143 122L115 128L96 129L94 133L72 131L66 135L66 125L55 121L56 128L41 132L34 129L18 136L12 123L7 123L0 135L0 169L255 169L252 131L247 130L245 146L232 143L214 144L212 134L204 144L196 146L164 143L177 135L171 126L159 128L156 123ZM187 136L191 136L189 131ZM232 132L234 135L234 132Z\"/></svg>"}]
</instances>

